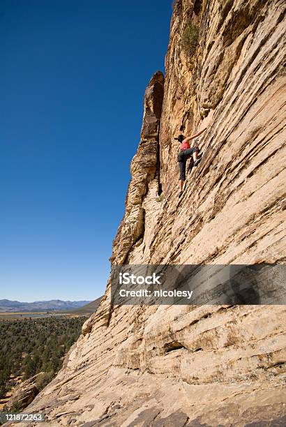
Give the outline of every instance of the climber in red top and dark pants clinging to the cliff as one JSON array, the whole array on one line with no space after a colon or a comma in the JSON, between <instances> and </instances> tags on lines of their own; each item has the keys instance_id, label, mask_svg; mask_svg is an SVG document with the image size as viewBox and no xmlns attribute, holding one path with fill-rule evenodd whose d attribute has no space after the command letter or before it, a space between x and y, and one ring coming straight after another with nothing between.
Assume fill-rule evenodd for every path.
<instances>
[{"instance_id":1,"label":"climber in red top and dark pants clinging to the cliff","mask_svg":"<svg viewBox=\"0 0 286 427\"><path fill-rule=\"evenodd\" d=\"M181 143L180 145L180 151L178 154L178 162L180 167L180 178L179 178L179 185L180 185L180 193L179 197L183 195L183 183L186 180L186 163L188 158L190 158L193 155L193 166L197 166L202 158L198 158L197 154L199 153L200 149L199 147L190 147L190 140L193 140L194 138L201 135L206 128L201 130L200 132L194 133L194 135L190 135L189 137L184 137L183 135L179 135L175 140L179 141Z\"/></svg>"}]
</instances>

